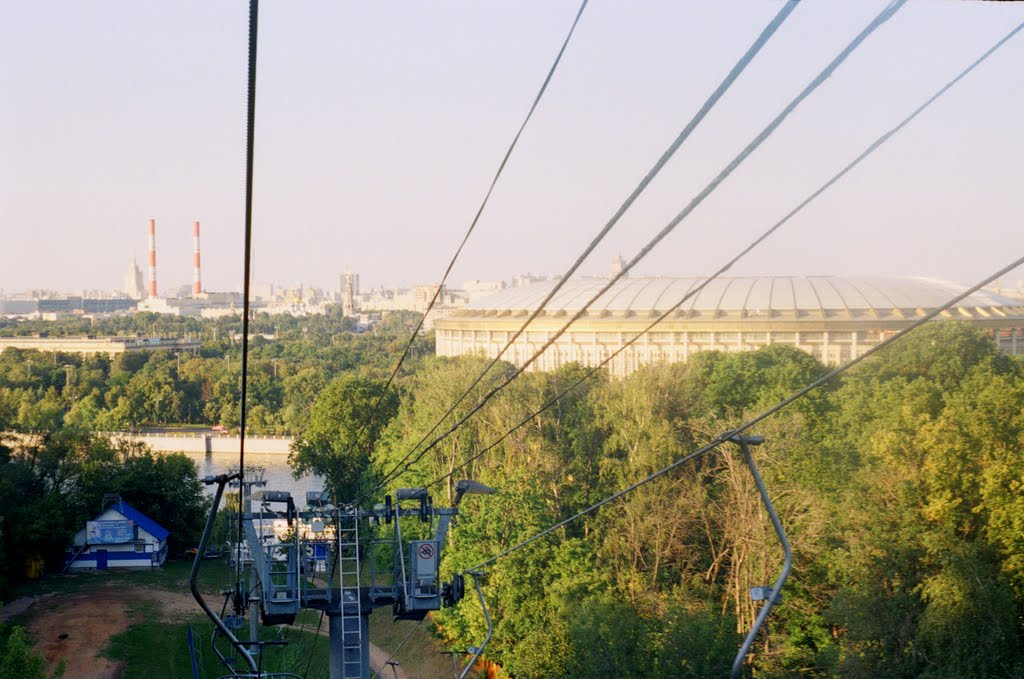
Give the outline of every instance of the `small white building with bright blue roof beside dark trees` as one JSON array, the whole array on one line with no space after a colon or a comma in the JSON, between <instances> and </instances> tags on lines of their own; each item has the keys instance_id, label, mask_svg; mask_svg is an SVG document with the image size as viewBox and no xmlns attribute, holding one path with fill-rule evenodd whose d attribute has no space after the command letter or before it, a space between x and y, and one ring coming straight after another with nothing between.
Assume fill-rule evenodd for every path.
<instances>
[{"instance_id":1,"label":"small white building with bright blue roof beside dark trees","mask_svg":"<svg viewBox=\"0 0 1024 679\"><path fill-rule=\"evenodd\" d=\"M68 548L69 571L156 568L167 560L167 528L123 500L75 534Z\"/></svg>"}]
</instances>

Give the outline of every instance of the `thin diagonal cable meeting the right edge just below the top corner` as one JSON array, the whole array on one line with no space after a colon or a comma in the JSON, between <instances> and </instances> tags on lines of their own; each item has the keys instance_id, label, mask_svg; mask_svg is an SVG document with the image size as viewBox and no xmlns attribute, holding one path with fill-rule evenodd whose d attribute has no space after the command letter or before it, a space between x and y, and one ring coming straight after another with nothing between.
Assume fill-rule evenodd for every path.
<instances>
[{"instance_id":1,"label":"thin diagonal cable meeting the right edge just below the top corner","mask_svg":"<svg viewBox=\"0 0 1024 679\"><path fill-rule=\"evenodd\" d=\"M793 217L795 217L799 212L801 212L804 208L806 208L808 205L810 205L815 199L817 199L819 196L821 196L821 194L825 193L835 183L837 183L840 179L842 179L844 176L846 176L851 170L853 170L855 167L857 167L863 160L865 160L868 156L870 156L872 153L874 153L882 144L884 144L886 141L888 141L890 138L892 138L893 135L895 135L897 132L899 132L904 127L906 127L906 125L908 125L914 118L916 118L921 113L923 113L932 103L934 103L939 97L941 97L949 89L951 89L953 87L953 85L955 85L956 83L958 83L965 76L967 76L969 73L971 73L972 71L974 71L974 69L976 69L978 66L980 66L982 62L984 62L999 47L1001 47L1004 44L1006 44L1011 38L1013 38L1015 35L1017 35L1022 29L1024 29L1024 23L1021 23L1021 24L1017 25L1017 27L1013 31L1011 31L1010 33L1008 33L1001 40L999 40L998 42L996 42L992 47L990 47L987 51L985 51L985 53L983 53L981 56L979 56L977 59L975 59L970 66L968 66L966 69L964 69L963 71L961 71L961 73L955 78L953 78L952 80L950 80L942 88L940 88L938 91L936 91L935 94L933 94L932 96L930 96L924 103L922 103L920 107L918 107L916 109L914 109L914 111L909 116L907 116L906 118L904 118L895 127L893 127L892 129L890 129L889 131L887 131L885 134L883 134L882 136L880 136L878 139L876 139L859 156L857 156L853 161L851 161L849 164L847 164L846 167L844 167L838 173L836 173L835 175L833 175L833 177L830 179L828 179L828 181L826 181L825 183L823 183L817 190L815 190L810 196L808 196L806 199L804 199L803 201L801 201L801 203L799 205L797 205L797 207L795 207L788 213L786 213L786 215L784 217L782 217L780 220L778 220L777 222L775 222L775 224L773 224L771 226L771 228L769 228L768 230L766 230L762 236L760 236L757 240L755 240L753 243L751 243L751 245L749 245L746 248L744 248L743 250L741 250L738 255L736 255L731 260L729 260L729 262L727 262L724 266L722 266L717 271L715 271L710 278L708 278L707 280L705 280L700 285L698 285L696 288L688 291L686 293L686 295L683 296L682 299L680 299L676 304L674 304L672 307L670 307L668 310L666 310L664 313L662 313L662 315L657 316L657 319L655 319L644 330L642 330L639 333L637 333L636 335L634 335L628 342L626 342L621 347L618 347L617 349L615 349L611 353L611 355L609 355L608 357L606 357L604 360L602 360L601 363L599 363L594 368L592 368L589 371L587 371L583 375L583 377L581 377L580 379L578 379L571 385L569 385L569 386L565 387L564 389L562 389L561 391L559 391L557 394L555 394L553 397L551 397L549 400L547 400L539 410L535 411L529 416L527 416L526 418L524 418L521 422L519 422L517 425L515 425L514 427L512 427L511 429L509 429L508 431L506 431L504 434L502 434L502 436L500 438L498 438L497 440L490 442L486 448L484 448L483 450L479 451L478 453L476 453L475 455L473 455L472 457L470 457L468 460L466 460L465 462L463 462L459 466L457 466L454 469L452 469L452 471L450 471L447 474L444 474L443 476L440 476L440 477L438 477L438 478L430 481L430 483L427 484L427 487L430 487L431 485L435 485L435 484L443 481L446 478L451 478L457 471L460 471L460 470L466 468L467 466L469 466L471 463L473 463L474 461L476 461L477 459L479 459L480 457L482 457L484 454L486 454L488 451L490 451L492 449L494 449L496 445L498 445L499 443L501 443L503 440L505 440L506 438L508 438L512 433L514 433L515 431L517 431L521 427L525 426L529 422L531 422L534 420L534 418L536 418L538 415L544 413L549 408L551 408L552 406L554 406L566 393L568 393L572 389L575 389L578 386L580 386L581 384L583 384L584 382L586 382L588 379L590 379L591 377L593 377L598 371L600 371L606 365L608 365L609 363L611 363L615 358L615 356L617 356L620 353L622 353L627 348L629 348L630 346L632 346L635 342L637 342L644 335L646 335L647 333L649 333L654 328L654 326L658 325L659 323L662 323L663 321L665 321L667 317L669 317L672 313L674 313L677 309L679 309L679 307L681 307L688 299L694 297L697 293L699 293L701 290L703 290L705 287L708 286L708 284L710 284L712 281L714 281L715 279L717 279L718 277L720 277L725 271L729 270L733 266L733 264L735 264L740 258L742 258L748 253L750 253L751 250L753 250L755 247L757 247L762 242L764 242L765 239L767 239L769 236L771 236L776 230L778 230L783 224L785 224L787 221L790 221L790 219L792 219Z\"/></svg>"}]
</instances>

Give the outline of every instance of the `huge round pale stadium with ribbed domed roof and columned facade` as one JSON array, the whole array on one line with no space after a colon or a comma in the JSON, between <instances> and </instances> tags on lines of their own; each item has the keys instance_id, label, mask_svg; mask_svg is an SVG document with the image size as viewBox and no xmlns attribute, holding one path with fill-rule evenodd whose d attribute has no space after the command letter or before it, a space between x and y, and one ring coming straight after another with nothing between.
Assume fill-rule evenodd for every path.
<instances>
[{"instance_id":1,"label":"huge round pale stadium with ribbed domed roof and columned facade","mask_svg":"<svg viewBox=\"0 0 1024 679\"><path fill-rule=\"evenodd\" d=\"M625 376L658 362L682 362L697 351L750 351L795 346L828 365L849 360L937 306L964 287L921 278L722 278L687 299L702 278L620 280L573 323L530 370L578 362L596 366L642 336L607 366ZM521 366L571 319L607 279L568 282L503 358ZM438 355L494 357L555 286L554 281L508 288L435 322ZM978 292L940 314L985 329L1005 353L1024 353L1024 301Z\"/></svg>"}]
</instances>

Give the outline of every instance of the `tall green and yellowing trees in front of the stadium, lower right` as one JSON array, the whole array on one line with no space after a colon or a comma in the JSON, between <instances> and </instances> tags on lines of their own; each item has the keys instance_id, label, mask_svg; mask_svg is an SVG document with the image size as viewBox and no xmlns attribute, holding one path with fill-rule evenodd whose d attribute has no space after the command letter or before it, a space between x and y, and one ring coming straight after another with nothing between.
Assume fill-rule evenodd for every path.
<instances>
[{"instance_id":1,"label":"tall green and yellowing trees in front of the stadium, lower right","mask_svg":"<svg viewBox=\"0 0 1024 679\"><path fill-rule=\"evenodd\" d=\"M394 466L482 365L437 358L407 380L376 464ZM444 568L572 515L825 370L776 346L587 383L456 473L501 494L464 502ZM393 485L443 477L579 371L522 376ZM1024 675L1019 363L938 324L754 433L796 553L757 676ZM451 481L433 493L441 502ZM758 611L749 588L780 565L750 472L724 448L489 566L487 656L520 679L723 676ZM474 597L437 620L457 645L483 637Z\"/></svg>"}]
</instances>

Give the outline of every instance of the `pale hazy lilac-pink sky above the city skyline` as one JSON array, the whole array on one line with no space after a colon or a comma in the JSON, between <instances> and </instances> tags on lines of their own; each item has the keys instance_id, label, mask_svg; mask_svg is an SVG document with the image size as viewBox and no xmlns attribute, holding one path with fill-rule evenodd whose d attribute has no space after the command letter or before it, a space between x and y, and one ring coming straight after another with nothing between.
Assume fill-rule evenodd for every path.
<instances>
[{"instance_id":1,"label":"pale hazy lilac-pink sky above the city skyline","mask_svg":"<svg viewBox=\"0 0 1024 679\"><path fill-rule=\"evenodd\" d=\"M805 2L585 265L627 259L884 6ZM264 0L255 278L440 278L579 2ZM778 10L593 0L453 273L564 270ZM248 3L0 0L0 288L242 281ZM1024 20L911 1L636 269L708 273ZM971 283L1024 250L1024 35L736 273ZM1016 272L1005 284L1024 279Z\"/></svg>"}]
</instances>

